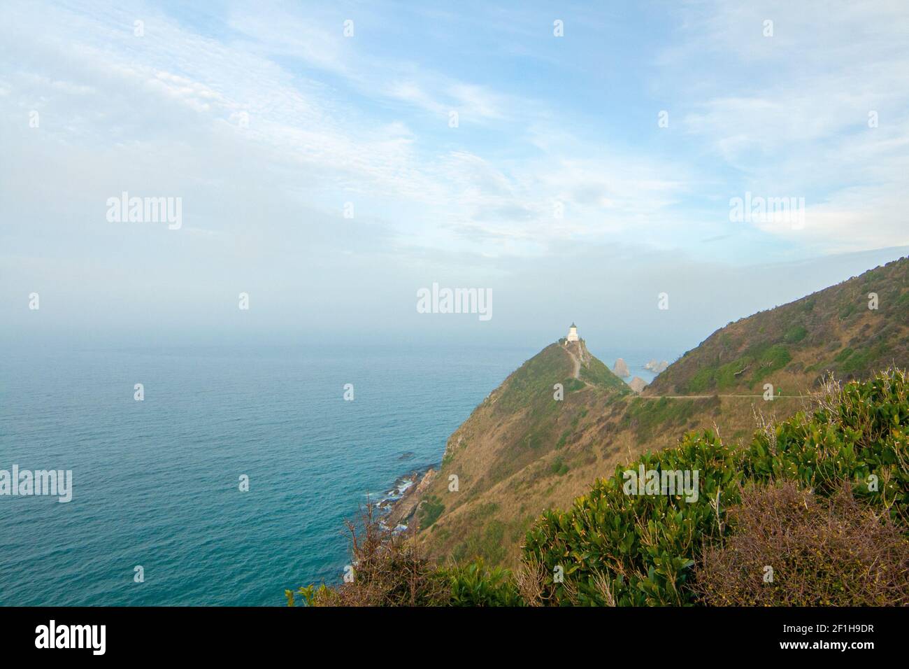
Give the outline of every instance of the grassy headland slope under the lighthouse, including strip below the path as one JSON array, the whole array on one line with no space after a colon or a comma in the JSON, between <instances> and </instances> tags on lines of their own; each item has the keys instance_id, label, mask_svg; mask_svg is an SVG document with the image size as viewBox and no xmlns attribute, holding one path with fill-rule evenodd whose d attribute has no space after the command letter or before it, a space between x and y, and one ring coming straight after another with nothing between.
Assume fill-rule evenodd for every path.
<instances>
[{"instance_id":1,"label":"grassy headland slope under the lighthouse, including strip below the path","mask_svg":"<svg viewBox=\"0 0 909 669\"><path fill-rule=\"evenodd\" d=\"M797 398L641 398L580 345L552 344L504 380L449 438L442 468L393 522L416 522L428 552L462 563L514 566L541 512L564 507L605 471L684 431L747 438L755 413L791 415ZM582 360L574 379L574 360ZM554 400L562 383L564 400ZM449 489L457 476L458 490Z\"/></svg>"}]
</instances>

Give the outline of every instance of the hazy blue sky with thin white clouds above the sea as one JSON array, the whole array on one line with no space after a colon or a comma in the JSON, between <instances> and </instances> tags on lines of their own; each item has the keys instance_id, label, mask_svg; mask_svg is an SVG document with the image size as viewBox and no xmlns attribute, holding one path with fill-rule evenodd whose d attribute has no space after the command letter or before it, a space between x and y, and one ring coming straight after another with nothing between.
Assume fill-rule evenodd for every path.
<instances>
[{"instance_id":1,"label":"hazy blue sky with thin white clouds above the sea","mask_svg":"<svg viewBox=\"0 0 909 669\"><path fill-rule=\"evenodd\" d=\"M0 340L677 355L909 255L907 81L900 1L4 0Z\"/></svg>"}]
</instances>

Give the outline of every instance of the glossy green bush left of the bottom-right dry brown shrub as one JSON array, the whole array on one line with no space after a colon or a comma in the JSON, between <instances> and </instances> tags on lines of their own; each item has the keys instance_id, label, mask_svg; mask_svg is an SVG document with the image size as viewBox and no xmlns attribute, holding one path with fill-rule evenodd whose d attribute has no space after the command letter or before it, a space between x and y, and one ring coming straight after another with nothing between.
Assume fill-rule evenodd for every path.
<instances>
[{"instance_id":1,"label":"glossy green bush left of the bottom-right dry brown shrub","mask_svg":"<svg viewBox=\"0 0 909 669\"><path fill-rule=\"evenodd\" d=\"M692 433L678 447L647 453L628 469L641 463L646 470L696 469L698 502L679 495L626 495L626 468L620 466L571 510L544 512L524 542L524 559L544 566L544 598L566 604L690 603L686 585L697 547L722 532L710 500L719 495L723 509L738 502L741 457L711 432Z\"/></svg>"}]
</instances>

